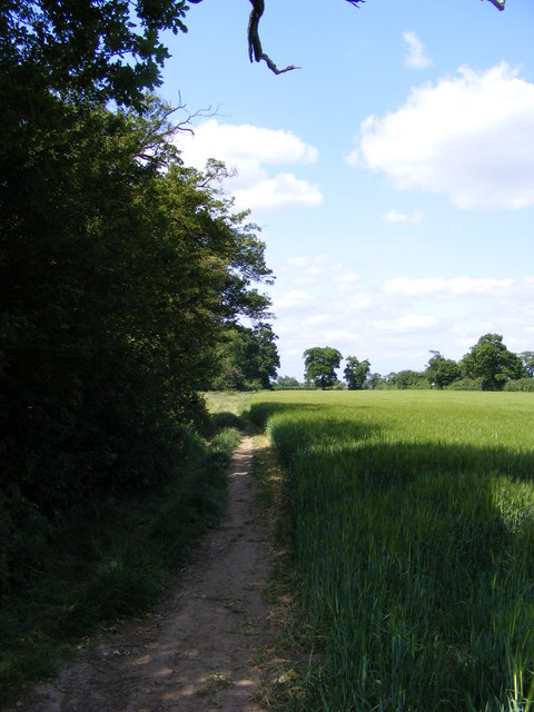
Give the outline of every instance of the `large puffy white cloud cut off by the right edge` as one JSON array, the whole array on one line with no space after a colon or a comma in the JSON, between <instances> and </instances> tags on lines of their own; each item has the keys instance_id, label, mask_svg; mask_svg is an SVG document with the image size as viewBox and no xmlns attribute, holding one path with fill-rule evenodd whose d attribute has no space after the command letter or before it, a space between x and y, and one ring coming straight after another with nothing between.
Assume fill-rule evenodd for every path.
<instances>
[{"instance_id":1,"label":"large puffy white cloud cut off by the right edge","mask_svg":"<svg viewBox=\"0 0 534 712\"><path fill-rule=\"evenodd\" d=\"M399 189L447 194L459 208L534 205L534 85L508 65L412 91L397 111L360 125L353 166Z\"/></svg>"}]
</instances>

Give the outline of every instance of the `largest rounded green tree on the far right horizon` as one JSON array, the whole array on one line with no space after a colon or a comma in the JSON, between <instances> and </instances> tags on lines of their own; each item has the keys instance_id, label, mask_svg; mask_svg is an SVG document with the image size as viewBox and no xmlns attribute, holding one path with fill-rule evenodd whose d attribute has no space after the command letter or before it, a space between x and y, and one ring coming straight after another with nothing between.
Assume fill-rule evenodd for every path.
<instances>
[{"instance_id":1,"label":"largest rounded green tree on the far right horizon","mask_svg":"<svg viewBox=\"0 0 534 712\"><path fill-rule=\"evenodd\" d=\"M501 334L485 334L471 347L461 362L463 375L482 378L483 390L502 390L507 380L525 375L517 354L503 344Z\"/></svg>"}]
</instances>

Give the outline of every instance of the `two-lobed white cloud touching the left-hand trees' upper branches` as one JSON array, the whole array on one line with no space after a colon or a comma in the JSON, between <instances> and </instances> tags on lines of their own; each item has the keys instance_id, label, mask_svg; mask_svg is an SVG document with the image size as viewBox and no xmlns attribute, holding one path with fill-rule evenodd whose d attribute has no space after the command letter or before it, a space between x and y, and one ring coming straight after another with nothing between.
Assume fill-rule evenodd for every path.
<instances>
[{"instance_id":1,"label":"two-lobed white cloud touching the left-hand trees' upper branches","mask_svg":"<svg viewBox=\"0 0 534 712\"><path fill-rule=\"evenodd\" d=\"M290 131L209 119L195 129L194 136L179 135L176 141L186 165L202 169L208 158L216 158L228 169L237 170L225 188L234 195L238 208L309 207L323 200L317 184L298 178L293 171L269 175L268 167L317 160L317 149Z\"/></svg>"}]
</instances>

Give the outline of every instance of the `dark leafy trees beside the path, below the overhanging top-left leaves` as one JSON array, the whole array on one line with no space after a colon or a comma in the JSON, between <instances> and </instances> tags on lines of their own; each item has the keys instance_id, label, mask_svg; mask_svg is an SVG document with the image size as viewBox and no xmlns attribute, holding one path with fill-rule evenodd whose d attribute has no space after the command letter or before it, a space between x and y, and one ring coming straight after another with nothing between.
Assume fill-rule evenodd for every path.
<instances>
[{"instance_id":1,"label":"dark leafy trees beside the path, below the overhanging top-left leaves","mask_svg":"<svg viewBox=\"0 0 534 712\"><path fill-rule=\"evenodd\" d=\"M63 113L0 185L2 487L49 513L170 472L220 334L264 317L270 275L165 107Z\"/></svg>"}]
</instances>

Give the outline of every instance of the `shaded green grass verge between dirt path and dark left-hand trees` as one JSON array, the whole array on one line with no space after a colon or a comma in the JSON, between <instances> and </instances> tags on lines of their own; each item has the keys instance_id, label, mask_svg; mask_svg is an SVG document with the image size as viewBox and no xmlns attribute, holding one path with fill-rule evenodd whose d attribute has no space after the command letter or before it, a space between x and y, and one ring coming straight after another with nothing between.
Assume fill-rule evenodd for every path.
<instances>
[{"instance_id":1,"label":"shaded green grass verge between dirt path and dark left-hand trees","mask_svg":"<svg viewBox=\"0 0 534 712\"><path fill-rule=\"evenodd\" d=\"M14 702L97 626L161 599L191 541L220 521L234 427L191 437L175 476L142 498L108 500L19 536L27 581L0 609L0 706ZM31 564L31 565L30 565ZM32 568L32 570L31 570ZM28 574L30 571L30 574Z\"/></svg>"}]
</instances>

